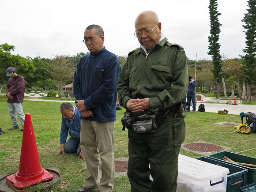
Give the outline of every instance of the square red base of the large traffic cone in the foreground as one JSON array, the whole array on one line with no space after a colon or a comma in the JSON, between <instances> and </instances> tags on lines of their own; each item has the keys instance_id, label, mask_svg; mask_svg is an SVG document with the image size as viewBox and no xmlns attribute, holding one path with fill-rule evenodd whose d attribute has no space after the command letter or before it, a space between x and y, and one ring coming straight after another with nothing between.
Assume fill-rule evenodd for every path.
<instances>
[{"instance_id":1,"label":"square red base of the large traffic cone in the foreground","mask_svg":"<svg viewBox=\"0 0 256 192\"><path fill-rule=\"evenodd\" d=\"M11 186L11 188L17 191L23 190L36 184L53 182L53 175L44 168L41 168L40 172L33 175L26 175L25 177L20 175L18 171L7 176L6 181Z\"/></svg>"}]
</instances>

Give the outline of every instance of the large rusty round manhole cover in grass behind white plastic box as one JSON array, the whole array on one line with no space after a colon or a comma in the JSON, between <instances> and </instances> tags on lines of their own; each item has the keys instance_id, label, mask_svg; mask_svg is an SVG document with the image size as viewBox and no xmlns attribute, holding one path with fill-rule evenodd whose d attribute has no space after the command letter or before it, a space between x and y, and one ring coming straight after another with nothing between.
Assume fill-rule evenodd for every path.
<instances>
[{"instance_id":1,"label":"large rusty round manhole cover in grass behind white plastic box","mask_svg":"<svg viewBox=\"0 0 256 192\"><path fill-rule=\"evenodd\" d=\"M200 152L223 151L222 147L218 145L210 144L210 143L188 143L188 144L185 144L184 147L192 151L200 151Z\"/></svg>"}]
</instances>

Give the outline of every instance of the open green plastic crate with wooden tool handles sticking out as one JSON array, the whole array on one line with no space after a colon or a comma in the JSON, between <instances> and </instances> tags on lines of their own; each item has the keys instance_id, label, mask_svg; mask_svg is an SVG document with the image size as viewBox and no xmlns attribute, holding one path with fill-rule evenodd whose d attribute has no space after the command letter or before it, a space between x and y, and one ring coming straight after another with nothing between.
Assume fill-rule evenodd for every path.
<instances>
[{"instance_id":1,"label":"open green plastic crate with wooden tool handles sticking out","mask_svg":"<svg viewBox=\"0 0 256 192\"><path fill-rule=\"evenodd\" d=\"M229 151L221 151L221 152L218 152L218 153L210 154L207 157L216 159L220 162L226 162L226 161L222 160L222 158L224 156L232 159L234 162L256 164L256 158L248 157L248 156L245 156L245 155L242 155L242 154L232 153L232 152L229 152ZM226 162L226 163L248 169L247 184L256 183L256 168L241 166L241 165L237 165L237 164L231 163L231 162Z\"/></svg>"}]
</instances>

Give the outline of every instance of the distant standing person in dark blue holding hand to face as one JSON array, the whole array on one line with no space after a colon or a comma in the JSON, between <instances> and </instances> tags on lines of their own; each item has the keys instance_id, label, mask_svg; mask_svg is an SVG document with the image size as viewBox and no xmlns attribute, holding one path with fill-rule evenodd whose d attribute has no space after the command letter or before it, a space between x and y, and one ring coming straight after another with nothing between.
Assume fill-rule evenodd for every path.
<instances>
[{"instance_id":1,"label":"distant standing person in dark blue holding hand to face","mask_svg":"<svg viewBox=\"0 0 256 192\"><path fill-rule=\"evenodd\" d=\"M189 75L188 76L188 92L187 92L188 108L186 108L186 112L190 111L190 105L191 105L191 101L192 101L192 104L193 104L192 113L196 113L195 87L196 87L196 81L192 78L192 76Z\"/></svg>"}]
</instances>

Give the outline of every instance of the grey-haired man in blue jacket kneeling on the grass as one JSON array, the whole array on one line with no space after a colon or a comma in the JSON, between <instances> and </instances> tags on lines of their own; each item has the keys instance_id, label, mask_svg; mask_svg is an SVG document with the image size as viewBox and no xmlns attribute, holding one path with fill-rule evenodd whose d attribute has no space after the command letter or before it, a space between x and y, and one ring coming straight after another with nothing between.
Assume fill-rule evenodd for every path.
<instances>
[{"instance_id":1,"label":"grey-haired man in blue jacket kneeling on the grass","mask_svg":"<svg viewBox=\"0 0 256 192\"><path fill-rule=\"evenodd\" d=\"M64 102L60 105L61 131L60 131L60 151L58 153L77 153L78 158L84 158L80 148L80 130L81 120L80 113L75 105L69 102ZM68 132L70 138L68 138Z\"/></svg>"}]
</instances>

